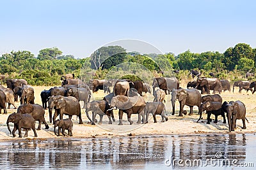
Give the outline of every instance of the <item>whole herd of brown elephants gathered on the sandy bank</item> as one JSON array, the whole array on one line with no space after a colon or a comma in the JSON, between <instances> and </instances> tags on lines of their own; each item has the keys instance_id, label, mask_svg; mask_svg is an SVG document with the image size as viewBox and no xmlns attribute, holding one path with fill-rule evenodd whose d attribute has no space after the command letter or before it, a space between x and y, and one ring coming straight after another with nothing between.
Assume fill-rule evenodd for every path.
<instances>
[{"instance_id":1,"label":"whole herd of brown elephants gathered on the sandy bank","mask_svg":"<svg viewBox=\"0 0 256 170\"><path fill-rule=\"evenodd\" d=\"M73 74L74 78L74 74ZM26 129L25 136L28 136L28 129L33 129L35 136L35 120L39 121L38 130L41 127L41 123L45 124L45 129L49 129L49 125L45 122L44 114L45 110L49 109L49 120L54 124L54 134L65 136L65 129L68 130L68 135L72 136L72 116L76 115L79 118L79 124L83 124L81 118L81 106L79 101L83 101L83 109L85 109L86 116L90 120L91 124L97 123L96 115L99 115L99 124L102 123L102 117L108 116L109 124L112 121L115 122L113 110L118 109L119 124L122 125L122 117L124 113L127 113L127 120L129 124L133 124L131 120L132 114L138 114L137 123L148 123L148 115L152 113L154 122L156 123L156 115L161 115L161 122L168 120L165 108L165 97L168 94L172 96L172 115L175 113L175 101L180 103L179 116L186 114L183 110L184 105L190 107L189 115L193 114L193 106L198 106L198 113L202 118L202 111L207 113L207 124L211 122L211 114L215 115L214 123L218 122L218 115L223 117L223 123L226 123L225 113L227 113L229 131L234 131L236 128L236 120L243 120L243 129L246 129L246 108L241 101L230 103L222 103L221 94L222 90L230 91L230 83L228 80L219 80L218 78L197 78L196 81L189 81L188 89L182 89L179 87L179 80L177 78L154 78L151 87L148 83L142 81L131 80L90 80L87 84L79 79L62 78L61 87L52 87L49 90L43 90L40 94L42 99L42 106L35 104L34 89L30 87L26 80L23 79L8 79L6 80L7 88L0 86L0 113L1 109L4 113L7 113L5 103L13 104L14 108L17 108L15 101L18 101L20 97L20 106L17 108L17 113L12 113L6 122L8 130L10 130L10 122L14 123L14 128L11 134L15 137L15 131L19 130L19 137L21 138L21 128ZM110 92L110 87L113 86L113 92ZM189 89L193 87L193 89ZM234 87L239 87L239 92L242 89L251 90L254 88L255 81L253 83L247 83L247 81L236 81ZM233 91L234 91L233 87ZM90 101L92 92L98 90L104 90L109 93L102 100ZM199 92L201 90L201 93ZM210 90L213 90L213 95L203 96L201 94L209 94ZM144 93L152 93L154 96L153 102L146 102ZM215 94L218 92L219 94ZM49 106L47 106L47 103ZM54 115L52 117L52 110ZM92 111L92 118L89 116L89 111ZM63 119L63 115L68 115L69 118ZM60 120L56 118L60 115ZM142 117L142 119L141 119ZM111 120L112 119L112 120ZM197 121L197 122L198 122ZM56 133L56 127L58 127L58 133Z\"/></svg>"}]
</instances>

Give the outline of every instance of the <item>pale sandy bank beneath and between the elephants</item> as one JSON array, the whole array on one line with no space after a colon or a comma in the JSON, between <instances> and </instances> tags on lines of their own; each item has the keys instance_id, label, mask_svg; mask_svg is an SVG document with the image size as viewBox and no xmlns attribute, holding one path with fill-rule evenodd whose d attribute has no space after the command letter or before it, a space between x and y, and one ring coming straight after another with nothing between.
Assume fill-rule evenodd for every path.
<instances>
[{"instance_id":1,"label":"pale sandy bank beneath and between the elephants","mask_svg":"<svg viewBox=\"0 0 256 170\"><path fill-rule=\"evenodd\" d=\"M49 89L50 87L34 87L35 89L35 103L41 104L40 92L44 89ZM238 91L236 89L236 91ZM100 99L104 97L103 92L98 92L93 94L92 99ZM112 125L108 125L108 118L106 116L103 117L103 123L101 125L90 125L87 124L88 118L82 110L82 120L84 122L83 125L79 125L79 120L76 117L72 118L74 127L73 127L73 136L72 137L57 137L54 135L53 125L49 123L49 113L48 110L45 110L45 120L47 124L49 124L50 129L45 130L45 125L42 125L40 131L36 131L38 134L37 138L34 138L33 131L28 132L28 138L18 138L18 131L16 131L16 137L13 138L10 132L7 129L6 120L10 113L16 111L15 109L8 110L8 114L0 115L0 142L4 141L31 141L31 140L49 140L49 139L58 139L58 140L70 140L70 139L85 139L85 138L118 138L119 136L167 136L167 135L207 135L207 134L253 134L256 133L256 97L253 94L246 94L243 91L241 94L235 92L234 94L231 92L225 92L221 94L223 97L223 101L236 101L240 100L246 105L246 118L248 118L249 122L246 122L246 129L241 129L243 126L242 120L237 120L237 129L234 132L228 131L228 124L223 124L223 118L218 117L218 123L214 124L206 124L206 115L203 114L204 120L200 120L199 123L196 121L199 118L198 108L194 107L194 115L188 116L184 115L184 117L178 117L179 113L179 102L176 103L175 106L175 115L170 115L171 104L170 104L170 95L166 97L166 110L168 113L169 120L167 122L159 122L161 120L160 116L157 116L157 123L154 124L152 115L150 115L150 120L148 124L136 124L138 120L137 115L132 115L132 120L134 124L129 125L127 122L127 116L124 114L123 120L124 125L118 125L118 112L114 111L116 122L113 122ZM148 95L145 97L146 101L152 101L152 95ZM18 105L19 103L17 103ZM189 111L189 107L186 106L185 110ZM90 113L91 116L91 113ZM97 116L98 117L98 116ZM214 116L212 116L214 118ZM36 127L38 123L36 122ZM13 129L13 124L10 124L11 129ZM107 130L104 130L107 129ZM22 136L24 136L24 131L22 131Z\"/></svg>"}]
</instances>

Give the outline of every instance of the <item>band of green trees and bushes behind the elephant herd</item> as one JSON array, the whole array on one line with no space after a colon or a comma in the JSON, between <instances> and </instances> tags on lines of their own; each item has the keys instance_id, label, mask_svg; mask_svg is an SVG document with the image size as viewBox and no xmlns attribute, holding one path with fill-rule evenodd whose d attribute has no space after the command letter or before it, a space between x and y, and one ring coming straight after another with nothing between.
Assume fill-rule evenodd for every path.
<instances>
[{"instance_id":1,"label":"band of green trees and bushes behind the elephant herd","mask_svg":"<svg viewBox=\"0 0 256 170\"><path fill-rule=\"evenodd\" d=\"M0 57L0 73L9 78L25 78L30 85L60 85L63 74L74 73L84 81L94 78L116 78L120 74L139 74L143 78L150 75L173 76L178 78L191 69L200 70L205 76L213 72L218 78L237 80L246 72L256 71L256 48L238 43L224 53L193 53L189 50L175 56L173 53L141 54L126 52L122 46L102 46L85 59L75 59L73 55L62 55L54 48L40 50L38 56L29 51L5 53ZM82 71L81 71L82 70ZM232 76L232 77L230 77ZM127 76L126 76L127 77Z\"/></svg>"}]
</instances>

